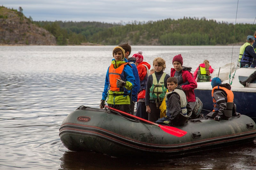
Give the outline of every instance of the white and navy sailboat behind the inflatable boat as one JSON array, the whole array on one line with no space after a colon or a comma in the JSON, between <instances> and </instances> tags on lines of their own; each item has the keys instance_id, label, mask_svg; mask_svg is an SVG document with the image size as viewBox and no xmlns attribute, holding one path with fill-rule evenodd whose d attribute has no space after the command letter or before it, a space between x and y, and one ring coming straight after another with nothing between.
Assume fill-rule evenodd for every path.
<instances>
[{"instance_id":1,"label":"white and navy sailboat behind the inflatable boat","mask_svg":"<svg viewBox=\"0 0 256 170\"><path fill-rule=\"evenodd\" d=\"M231 70L231 79L229 74ZM231 90L234 93L234 103L236 104L236 111L251 117L256 120L255 112L255 99L256 99L256 80L249 83L248 87L244 87L239 83L248 78L256 68L237 68L236 64L232 63L232 69L230 69L230 63L220 67L220 70L215 70L212 73L212 78L219 77L222 80L222 84L228 83L231 85ZM234 77L232 79L232 77ZM213 108L212 103L212 85L211 82L197 82L197 88L194 90L196 97L203 102L203 113L210 112Z\"/></svg>"}]
</instances>

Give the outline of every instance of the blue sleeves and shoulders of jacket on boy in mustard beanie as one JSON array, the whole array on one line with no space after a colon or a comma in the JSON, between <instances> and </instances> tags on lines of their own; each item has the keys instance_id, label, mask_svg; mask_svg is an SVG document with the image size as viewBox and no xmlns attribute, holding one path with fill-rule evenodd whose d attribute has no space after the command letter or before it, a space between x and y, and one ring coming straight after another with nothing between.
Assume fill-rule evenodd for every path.
<instances>
[{"instance_id":1,"label":"blue sleeves and shoulders of jacket on boy in mustard beanie","mask_svg":"<svg viewBox=\"0 0 256 170\"><path fill-rule=\"evenodd\" d=\"M112 59L112 61L113 60L115 60L115 59ZM128 62L127 59L125 59L125 58L124 58L124 61ZM109 67L108 67L108 70L109 70ZM106 100L107 97L108 97L108 85L109 85L108 70L107 70L107 73L106 73L104 90L102 92L102 100ZM121 79L124 80L124 81L130 82L132 84L132 88L135 86L135 78L134 78L133 73L132 73L132 68L129 65L124 66L124 70L121 74ZM125 94L130 94L131 90L125 89L124 93ZM123 96L123 97L126 97L126 95ZM124 104L126 104L126 103L124 103Z\"/></svg>"}]
</instances>

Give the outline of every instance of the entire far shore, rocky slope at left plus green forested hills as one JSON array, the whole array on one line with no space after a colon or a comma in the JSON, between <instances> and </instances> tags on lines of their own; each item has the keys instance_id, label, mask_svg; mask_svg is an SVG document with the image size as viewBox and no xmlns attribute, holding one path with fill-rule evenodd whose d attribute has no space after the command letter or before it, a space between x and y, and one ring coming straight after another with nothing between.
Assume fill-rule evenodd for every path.
<instances>
[{"instance_id":1,"label":"entire far shore, rocky slope at left plus green forested hills","mask_svg":"<svg viewBox=\"0 0 256 170\"><path fill-rule=\"evenodd\" d=\"M234 24L190 17L126 24L33 21L21 7L0 6L0 44L228 45L245 42L255 31L255 24L236 24L235 29Z\"/></svg>"}]
</instances>

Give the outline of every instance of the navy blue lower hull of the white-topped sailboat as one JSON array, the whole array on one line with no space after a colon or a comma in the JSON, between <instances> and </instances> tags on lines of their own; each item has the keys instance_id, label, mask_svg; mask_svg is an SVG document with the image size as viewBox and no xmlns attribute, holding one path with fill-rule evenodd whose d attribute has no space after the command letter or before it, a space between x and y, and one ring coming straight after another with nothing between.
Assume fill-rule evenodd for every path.
<instances>
[{"instance_id":1,"label":"navy blue lower hull of the white-topped sailboat","mask_svg":"<svg viewBox=\"0 0 256 170\"><path fill-rule=\"evenodd\" d=\"M212 90L195 89L195 95L203 102L203 109L212 110ZM256 120L256 92L236 92L234 93L234 103L236 104L236 111L251 117L254 121Z\"/></svg>"}]
</instances>

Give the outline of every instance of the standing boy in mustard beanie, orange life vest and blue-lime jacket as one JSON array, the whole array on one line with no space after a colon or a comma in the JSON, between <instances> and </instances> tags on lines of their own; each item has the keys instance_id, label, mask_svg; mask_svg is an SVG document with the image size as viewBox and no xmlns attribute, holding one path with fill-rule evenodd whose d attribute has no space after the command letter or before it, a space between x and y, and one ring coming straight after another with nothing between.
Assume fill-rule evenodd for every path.
<instances>
[{"instance_id":1,"label":"standing boy in mustard beanie, orange life vest and blue-lime jacket","mask_svg":"<svg viewBox=\"0 0 256 170\"><path fill-rule=\"evenodd\" d=\"M114 59L107 70L100 108L104 108L108 97L109 107L131 113L130 93L135 85L135 78L132 73L132 66L124 58L124 53L122 47L113 49Z\"/></svg>"}]
</instances>

